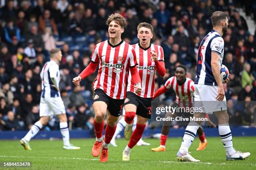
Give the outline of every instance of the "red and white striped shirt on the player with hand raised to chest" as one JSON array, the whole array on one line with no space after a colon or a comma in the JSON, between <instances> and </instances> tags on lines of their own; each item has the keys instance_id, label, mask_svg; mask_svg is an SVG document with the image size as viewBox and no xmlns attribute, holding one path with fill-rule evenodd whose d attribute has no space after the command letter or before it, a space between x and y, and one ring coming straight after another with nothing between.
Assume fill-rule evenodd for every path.
<instances>
[{"instance_id":1,"label":"red and white striped shirt on the player with hand raised to chest","mask_svg":"<svg viewBox=\"0 0 256 170\"><path fill-rule=\"evenodd\" d=\"M151 50L155 50L158 58L157 60L164 61L164 51L159 45L151 44L148 48L144 49L139 43L132 45L136 52L137 58L137 69L141 78L141 93L136 95L144 98L151 98L154 96L155 91L155 73L156 67L155 62L151 61ZM131 80L131 72L128 75L127 91L134 92L134 83Z\"/></svg>"}]
</instances>

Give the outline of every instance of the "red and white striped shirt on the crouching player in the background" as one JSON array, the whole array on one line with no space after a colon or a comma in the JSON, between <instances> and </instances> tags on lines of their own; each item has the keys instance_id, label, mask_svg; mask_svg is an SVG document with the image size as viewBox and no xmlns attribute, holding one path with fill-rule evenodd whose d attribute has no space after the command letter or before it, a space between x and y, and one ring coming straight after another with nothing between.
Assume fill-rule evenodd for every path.
<instances>
[{"instance_id":1,"label":"red and white striped shirt on the crouching player in the background","mask_svg":"<svg viewBox=\"0 0 256 170\"><path fill-rule=\"evenodd\" d=\"M186 77L186 81L182 85L179 85L176 76L172 76L165 82L164 87L166 89L172 88L174 90L176 93L175 101L193 101L194 82L190 78Z\"/></svg>"}]
</instances>

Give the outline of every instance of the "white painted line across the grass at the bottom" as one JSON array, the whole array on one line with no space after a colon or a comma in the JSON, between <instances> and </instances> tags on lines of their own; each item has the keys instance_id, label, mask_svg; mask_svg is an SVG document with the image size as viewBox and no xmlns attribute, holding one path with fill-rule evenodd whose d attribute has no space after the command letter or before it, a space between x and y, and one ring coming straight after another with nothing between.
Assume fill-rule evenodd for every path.
<instances>
[{"instance_id":1,"label":"white painted line across the grass at the bottom","mask_svg":"<svg viewBox=\"0 0 256 170\"><path fill-rule=\"evenodd\" d=\"M100 160L100 159L88 159L88 158L69 158L69 157L46 157L46 156L7 156L7 155L0 155L0 158L43 158L43 159L60 159L60 160ZM121 161L121 160L108 160L108 161ZM155 162L155 163L188 163L188 164L205 164L205 165L227 165L227 163L204 163L204 162L179 162L179 161L161 161L161 160L131 160L131 162ZM256 164L253 163L240 163L235 165L250 165L250 166L256 166Z\"/></svg>"}]
</instances>

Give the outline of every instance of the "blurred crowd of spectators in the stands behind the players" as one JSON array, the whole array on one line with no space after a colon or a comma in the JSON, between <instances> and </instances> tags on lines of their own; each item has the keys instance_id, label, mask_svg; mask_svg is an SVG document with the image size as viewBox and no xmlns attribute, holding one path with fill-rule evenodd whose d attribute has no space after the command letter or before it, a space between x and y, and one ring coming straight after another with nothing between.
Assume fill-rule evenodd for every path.
<instances>
[{"instance_id":1,"label":"blurred crowd of spectators in the stands behind the players","mask_svg":"<svg viewBox=\"0 0 256 170\"><path fill-rule=\"evenodd\" d=\"M187 77L195 79L197 50L212 30L211 14L224 11L229 20L223 35L223 64L230 72L230 82L224 86L228 107L255 101L256 34L248 32L237 7L256 20L252 0L0 0L0 130L28 130L39 119L39 74L54 47L61 48L63 55L60 90L69 128L93 129L91 85L97 72L77 87L72 78L90 63L95 44L108 39L106 20L112 13L127 19L122 38L130 44L138 42L139 23L153 25L152 43L163 47L166 66L166 75L155 77L157 89L179 64L186 65ZM175 93L170 90L162 98L175 100ZM253 108L246 110L246 123L251 126ZM243 119L236 110L229 114L231 119ZM45 130L56 130L57 121L53 117Z\"/></svg>"}]
</instances>

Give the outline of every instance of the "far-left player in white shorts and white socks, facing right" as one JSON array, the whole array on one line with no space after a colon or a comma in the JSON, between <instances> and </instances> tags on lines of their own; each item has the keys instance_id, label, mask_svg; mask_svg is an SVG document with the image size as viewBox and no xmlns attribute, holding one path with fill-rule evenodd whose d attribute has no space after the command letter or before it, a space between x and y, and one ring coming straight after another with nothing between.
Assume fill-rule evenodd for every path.
<instances>
[{"instance_id":1,"label":"far-left player in white shorts and white socks, facing right","mask_svg":"<svg viewBox=\"0 0 256 170\"><path fill-rule=\"evenodd\" d=\"M42 94L40 99L38 120L31 130L26 134L24 138L20 140L20 144L26 150L31 150L29 141L33 138L44 125L50 120L50 117L55 114L59 118L59 128L63 138L63 149L67 150L79 150L80 147L70 145L69 143L69 128L67 124L67 116L64 107L64 103L59 93L59 62L61 61L61 50L54 48L50 50L51 60L44 64L44 67L40 73L42 79Z\"/></svg>"}]
</instances>

